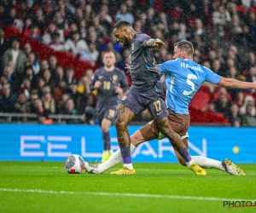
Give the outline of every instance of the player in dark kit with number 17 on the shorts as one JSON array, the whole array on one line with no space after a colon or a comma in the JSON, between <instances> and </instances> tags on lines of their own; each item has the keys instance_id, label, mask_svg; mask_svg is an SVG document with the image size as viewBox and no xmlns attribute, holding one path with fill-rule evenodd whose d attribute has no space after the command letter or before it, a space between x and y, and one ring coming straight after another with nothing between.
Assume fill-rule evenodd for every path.
<instances>
[{"instance_id":1,"label":"player in dark kit with number 17 on the shorts","mask_svg":"<svg viewBox=\"0 0 256 213\"><path fill-rule=\"evenodd\" d=\"M206 170L195 164L181 137L172 130L171 124L168 122L168 112L160 86L160 74L154 68L152 51L152 48L162 48L165 43L158 38L153 39L144 33L135 32L131 23L126 20L119 20L113 26L113 35L117 38L117 41L124 43L125 47L130 49L132 86L120 101L118 117L115 120L124 165L120 170L111 174L135 174L131 164L131 138L128 124L139 113L148 108L159 130L171 141L173 148L184 158L189 169L193 170L196 175L205 176L207 174Z\"/></svg>"}]
</instances>

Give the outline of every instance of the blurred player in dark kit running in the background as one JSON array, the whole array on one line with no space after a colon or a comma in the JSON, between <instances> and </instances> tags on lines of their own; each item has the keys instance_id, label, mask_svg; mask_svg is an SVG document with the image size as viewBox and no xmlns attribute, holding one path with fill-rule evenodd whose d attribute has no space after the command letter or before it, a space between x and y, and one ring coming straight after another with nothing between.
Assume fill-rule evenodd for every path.
<instances>
[{"instance_id":1,"label":"blurred player in dark kit running in the background","mask_svg":"<svg viewBox=\"0 0 256 213\"><path fill-rule=\"evenodd\" d=\"M117 115L119 97L128 89L125 72L115 67L115 55L106 52L102 57L104 66L96 70L90 83L90 90L97 94L96 115L101 126L104 150L102 162L106 161L113 151L110 147L109 127Z\"/></svg>"}]
</instances>

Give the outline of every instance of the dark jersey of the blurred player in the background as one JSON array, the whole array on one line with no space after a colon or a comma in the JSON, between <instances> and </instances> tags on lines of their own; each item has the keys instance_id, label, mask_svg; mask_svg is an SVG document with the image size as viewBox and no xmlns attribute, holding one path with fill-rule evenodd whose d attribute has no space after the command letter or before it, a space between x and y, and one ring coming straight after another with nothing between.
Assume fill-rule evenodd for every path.
<instances>
[{"instance_id":1,"label":"dark jersey of the blurred player in the background","mask_svg":"<svg viewBox=\"0 0 256 213\"><path fill-rule=\"evenodd\" d=\"M97 89L97 112L102 111L104 107L118 104L118 94L115 93L116 87L122 86L124 91L128 89L125 73L116 67L111 72L106 71L104 67L96 70L90 83L90 90L94 89L96 81L102 82L102 85Z\"/></svg>"}]
</instances>

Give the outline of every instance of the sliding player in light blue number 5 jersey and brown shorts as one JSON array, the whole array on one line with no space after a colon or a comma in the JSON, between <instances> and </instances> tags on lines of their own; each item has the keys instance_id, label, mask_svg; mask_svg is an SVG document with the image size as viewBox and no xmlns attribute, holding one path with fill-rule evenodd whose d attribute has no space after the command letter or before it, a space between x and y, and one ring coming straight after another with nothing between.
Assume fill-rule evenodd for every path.
<instances>
[{"instance_id":1,"label":"sliding player in light blue number 5 jersey and brown shorts","mask_svg":"<svg viewBox=\"0 0 256 213\"><path fill-rule=\"evenodd\" d=\"M189 130L189 102L195 95L195 92L200 88L205 81L218 84L224 87L234 87L241 89L256 89L256 82L248 83L241 82L232 78L222 78L213 73L205 66L196 64L193 58L194 48L192 43L181 41L174 44L174 60L166 61L163 64L156 66L159 72L166 73L166 106L168 108L168 119L172 129L177 132L183 139L186 147L188 143ZM160 133L154 120L144 125L140 130L137 130L131 135L131 152L144 141L154 139L162 139L165 135ZM174 150L180 164L186 165L183 158ZM223 162L212 158L202 156L191 156L195 163L203 168L214 168L223 170L235 176L245 176L241 168L233 164L230 159L226 158ZM108 170L115 164L119 164L122 158L120 151L117 150L103 164L88 164L85 162L84 168L90 173L101 174L104 170Z\"/></svg>"}]
</instances>

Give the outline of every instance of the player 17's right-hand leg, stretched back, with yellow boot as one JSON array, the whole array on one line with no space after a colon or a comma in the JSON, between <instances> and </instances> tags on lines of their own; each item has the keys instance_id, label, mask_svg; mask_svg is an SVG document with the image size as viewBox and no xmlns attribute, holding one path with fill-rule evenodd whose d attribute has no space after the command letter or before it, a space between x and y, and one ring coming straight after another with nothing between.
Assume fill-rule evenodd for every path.
<instances>
[{"instance_id":1,"label":"player 17's right-hand leg, stretched back, with yellow boot","mask_svg":"<svg viewBox=\"0 0 256 213\"><path fill-rule=\"evenodd\" d=\"M156 119L154 121L158 129L171 141L174 150L183 157L189 167L189 170L194 171L197 176L206 176L207 171L202 169L198 164L195 164L195 161L191 158L187 147L183 144L183 140L180 135L177 135L177 133L172 130L172 126L169 123L168 118Z\"/></svg>"}]
</instances>

